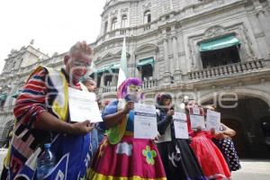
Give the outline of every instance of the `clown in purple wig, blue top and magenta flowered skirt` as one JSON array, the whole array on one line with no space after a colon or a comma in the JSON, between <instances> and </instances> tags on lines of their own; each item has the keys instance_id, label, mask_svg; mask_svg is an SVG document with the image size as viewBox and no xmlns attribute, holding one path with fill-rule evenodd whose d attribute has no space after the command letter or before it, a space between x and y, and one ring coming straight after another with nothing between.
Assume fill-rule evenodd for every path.
<instances>
[{"instance_id":1,"label":"clown in purple wig, blue top and magenta flowered skirt","mask_svg":"<svg viewBox=\"0 0 270 180\"><path fill-rule=\"evenodd\" d=\"M95 154L89 179L166 180L153 139L134 139L134 103L142 98L141 80L130 77L118 88L118 100L103 110L108 129Z\"/></svg>"}]
</instances>

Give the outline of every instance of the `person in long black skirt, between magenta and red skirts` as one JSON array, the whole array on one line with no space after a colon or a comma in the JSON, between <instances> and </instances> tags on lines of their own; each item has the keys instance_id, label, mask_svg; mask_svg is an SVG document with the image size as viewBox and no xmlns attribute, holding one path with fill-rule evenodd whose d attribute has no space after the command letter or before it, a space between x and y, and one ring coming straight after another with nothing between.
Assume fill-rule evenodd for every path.
<instances>
[{"instance_id":1,"label":"person in long black skirt, between magenta and red skirts","mask_svg":"<svg viewBox=\"0 0 270 180\"><path fill-rule=\"evenodd\" d=\"M157 95L157 130L160 134L157 148L165 165L166 177L168 180L206 179L188 139L175 138L174 113L171 95Z\"/></svg>"}]
</instances>

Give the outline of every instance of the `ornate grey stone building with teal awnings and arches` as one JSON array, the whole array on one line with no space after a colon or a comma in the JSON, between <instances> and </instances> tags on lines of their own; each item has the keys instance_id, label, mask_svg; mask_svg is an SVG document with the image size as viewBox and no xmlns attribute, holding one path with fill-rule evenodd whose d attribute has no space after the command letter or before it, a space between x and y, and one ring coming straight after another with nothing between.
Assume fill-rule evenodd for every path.
<instances>
[{"instance_id":1,"label":"ornate grey stone building with teal awnings and arches","mask_svg":"<svg viewBox=\"0 0 270 180\"><path fill-rule=\"evenodd\" d=\"M104 101L115 98L123 37L129 76L143 79L147 103L165 91L173 94L175 104L184 95L213 103L221 121L237 130L241 156L269 154L269 0L107 1L100 34L91 44L97 69L92 76ZM63 66L63 55L48 58L29 46L5 59L0 79L2 141L13 120L12 94L37 65Z\"/></svg>"}]
</instances>

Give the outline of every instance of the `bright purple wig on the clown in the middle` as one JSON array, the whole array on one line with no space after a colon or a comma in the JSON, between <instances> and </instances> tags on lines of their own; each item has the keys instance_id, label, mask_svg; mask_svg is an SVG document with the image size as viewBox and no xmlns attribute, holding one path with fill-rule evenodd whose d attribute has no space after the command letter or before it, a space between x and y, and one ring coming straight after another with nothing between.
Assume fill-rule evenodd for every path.
<instances>
[{"instance_id":1,"label":"bright purple wig on the clown in the middle","mask_svg":"<svg viewBox=\"0 0 270 180\"><path fill-rule=\"evenodd\" d=\"M118 98L124 98L128 93L127 91L128 91L128 86L129 85L141 86L141 84L142 84L142 81L137 77L127 78L124 82L122 82L122 84L118 88L117 97Z\"/></svg>"}]
</instances>

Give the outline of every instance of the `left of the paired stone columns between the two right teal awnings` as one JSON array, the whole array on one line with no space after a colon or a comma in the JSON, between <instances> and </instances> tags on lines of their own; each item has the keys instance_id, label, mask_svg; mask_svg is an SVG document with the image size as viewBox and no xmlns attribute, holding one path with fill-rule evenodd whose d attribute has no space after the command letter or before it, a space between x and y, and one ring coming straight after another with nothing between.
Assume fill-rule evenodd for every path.
<instances>
[{"instance_id":1,"label":"left of the paired stone columns between the two right teal awnings","mask_svg":"<svg viewBox=\"0 0 270 180\"><path fill-rule=\"evenodd\" d=\"M163 76L163 82L164 84L170 84L171 81L171 73L170 73L170 63L168 58L168 52L167 52L167 39L166 37L163 38L163 49L164 49L164 61L165 61L165 73Z\"/></svg>"}]
</instances>

